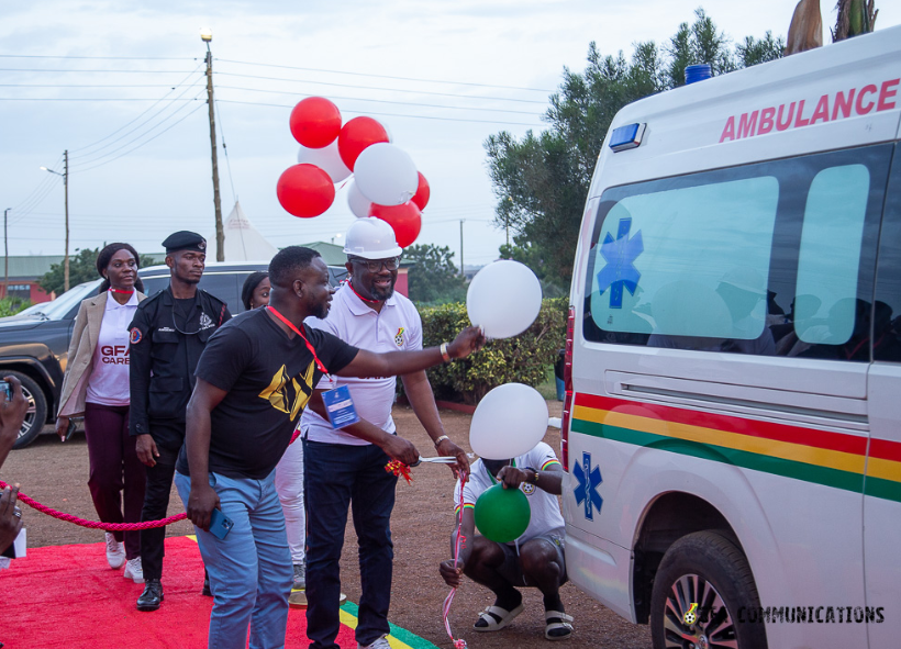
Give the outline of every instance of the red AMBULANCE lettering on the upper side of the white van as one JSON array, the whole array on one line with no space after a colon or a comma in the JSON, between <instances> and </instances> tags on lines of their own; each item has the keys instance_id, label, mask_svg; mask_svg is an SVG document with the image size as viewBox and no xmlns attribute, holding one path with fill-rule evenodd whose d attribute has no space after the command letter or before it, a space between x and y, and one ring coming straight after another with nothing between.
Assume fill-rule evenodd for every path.
<instances>
[{"instance_id":1,"label":"red AMBULANCE lettering on the upper side of the white van","mask_svg":"<svg viewBox=\"0 0 901 649\"><path fill-rule=\"evenodd\" d=\"M824 94L815 104L807 103L807 100L802 99L752 113L732 115L726 120L720 143L766 135L774 131L801 128L820 122L834 122L852 115L892 110L897 105L894 98L898 94L899 82L901 78L882 81L878 87L869 83L860 89L839 90L834 94Z\"/></svg>"}]
</instances>

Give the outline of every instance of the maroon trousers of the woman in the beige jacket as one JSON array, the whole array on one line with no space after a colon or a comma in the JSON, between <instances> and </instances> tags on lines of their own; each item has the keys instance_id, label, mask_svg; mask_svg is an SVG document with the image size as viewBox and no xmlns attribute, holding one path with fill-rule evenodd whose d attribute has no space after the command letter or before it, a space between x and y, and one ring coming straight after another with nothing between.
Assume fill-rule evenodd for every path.
<instances>
[{"instance_id":1,"label":"maroon trousers of the woman in the beige jacket","mask_svg":"<svg viewBox=\"0 0 901 649\"><path fill-rule=\"evenodd\" d=\"M88 440L88 489L93 508L103 523L137 523L144 505L144 465L137 459L134 437L129 436L129 406L85 404ZM124 506L123 506L124 505ZM137 531L113 531L125 541L125 556L141 556Z\"/></svg>"}]
</instances>

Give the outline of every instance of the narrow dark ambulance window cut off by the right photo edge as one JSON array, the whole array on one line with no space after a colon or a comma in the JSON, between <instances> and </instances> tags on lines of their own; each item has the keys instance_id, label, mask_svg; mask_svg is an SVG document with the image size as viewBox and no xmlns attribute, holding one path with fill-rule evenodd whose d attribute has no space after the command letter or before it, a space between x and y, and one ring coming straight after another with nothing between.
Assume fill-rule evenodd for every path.
<instances>
[{"instance_id":1,"label":"narrow dark ambulance window cut off by the right photo edge","mask_svg":"<svg viewBox=\"0 0 901 649\"><path fill-rule=\"evenodd\" d=\"M901 362L901 152L896 150L879 243L874 360Z\"/></svg>"}]
</instances>

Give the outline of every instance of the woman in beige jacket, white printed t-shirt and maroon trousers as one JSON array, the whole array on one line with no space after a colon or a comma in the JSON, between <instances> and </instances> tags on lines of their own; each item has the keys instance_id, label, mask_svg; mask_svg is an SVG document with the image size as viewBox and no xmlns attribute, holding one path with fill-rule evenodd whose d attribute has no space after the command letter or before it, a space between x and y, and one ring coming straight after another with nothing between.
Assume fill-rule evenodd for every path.
<instances>
[{"instance_id":1,"label":"woman in beige jacket, white printed t-shirt and maroon trousers","mask_svg":"<svg viewBox=\"0 0 901 649\"><path fill-rule=\"evenodd\" d=\"M63 441L69 417L85 416L88 488L103 523L137 523L144 505L144 465L129 436L127 327L145 299L137 267L137 253L129 244L110 244L97 256L104 281L100 294L78 309L56 416ZM137 531L108 531L107 561L113 569L127 563L124 577L144 582Z\"/></svg>"}]
</instances>

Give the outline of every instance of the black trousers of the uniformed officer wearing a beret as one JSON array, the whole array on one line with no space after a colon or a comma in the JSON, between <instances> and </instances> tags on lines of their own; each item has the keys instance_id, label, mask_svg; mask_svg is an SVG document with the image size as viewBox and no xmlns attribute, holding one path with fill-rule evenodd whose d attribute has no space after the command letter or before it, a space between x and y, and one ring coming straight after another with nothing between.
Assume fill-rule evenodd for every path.
<instances>
[{"instance_id":1,"label":"black trousers of the uniformed officer wearing a beret","mask_svg":"<svg viewBox=\"0 0 901 649\"><path fill-rule=\"evenodd\" d=\"M153 424L151 430L153 430ZM156 439L155 435L154 439ZM141 521L159 521L168 515L175 463L181 448L160 446L158 440L156 444L159 457L156 458L154 467L146 468L147 486L144 491L144 508L141 512ZM166 553L164 549L165 540L165 527L141 530L141 567L144 569L145 581L163 578L163 557Z\"/></svg>"}]
</instances>

